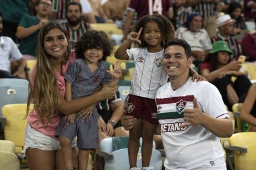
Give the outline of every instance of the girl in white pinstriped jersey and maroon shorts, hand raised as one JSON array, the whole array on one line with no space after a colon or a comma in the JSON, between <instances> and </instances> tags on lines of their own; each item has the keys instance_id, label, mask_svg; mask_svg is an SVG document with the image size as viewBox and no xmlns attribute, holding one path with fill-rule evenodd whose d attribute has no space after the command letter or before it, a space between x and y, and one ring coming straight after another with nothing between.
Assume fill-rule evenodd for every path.
<instances>
[{"instance_id":1,"label":"girl in white pinstriped jersey and maroon shorts, hand raised","mask_svg":"<svg viewBox=\"0 0 256 170\"><path fill-rule=\"evenodd\" d=\"M152 141L158 119L156 117L156 90L167 83L167 74L162 67L163 44L174 37L174 28L163 15L146 15L135 24L134 32L117 49L115 57L134 60L135 72L129 93L127 115L137 118L129 132L128 154L130 169L137 169L139 138L142 136L142 169L149 167ZM135 47L130 48L135 42Z\"/></svg>"}]
</instances>

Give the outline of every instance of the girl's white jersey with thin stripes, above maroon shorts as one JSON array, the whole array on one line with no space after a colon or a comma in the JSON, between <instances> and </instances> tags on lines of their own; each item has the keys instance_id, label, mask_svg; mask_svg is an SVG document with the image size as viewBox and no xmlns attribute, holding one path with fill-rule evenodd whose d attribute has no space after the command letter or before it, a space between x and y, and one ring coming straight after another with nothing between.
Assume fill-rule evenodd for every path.
<instances>
[{"instance_id":1,"label":"girl's white jersey with thin stripes, above maroon shorts","mask_svg":"<svg viewBox=\"0 0 256 170\"><path fill-rule=\"evenodd\" d=\"M164 50L150 53L148 48L127 50L129 60L135 62L130 94L154 99L159 87L167 82L167 73L162 67Z\"/></svg>"}]
</instances>

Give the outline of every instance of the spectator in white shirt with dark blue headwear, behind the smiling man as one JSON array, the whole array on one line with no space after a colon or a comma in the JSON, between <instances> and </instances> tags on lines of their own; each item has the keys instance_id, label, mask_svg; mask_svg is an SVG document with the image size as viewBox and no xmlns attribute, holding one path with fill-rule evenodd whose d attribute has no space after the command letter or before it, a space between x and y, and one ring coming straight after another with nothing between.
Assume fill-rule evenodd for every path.
<instances>
[{"instance_id":1,"label":"spectator in white shirt with dark blue headwear, behind the smiling man","mask_svg":"<svg viewBox=\"0 0 256 170\"><path fill-rule=\"evenodd\" d=\"M183 39L189 43L193 55L193 63L196 67L205 60L208 52L212 49L212 43L207 32L202 28L202 17L199 13L191 13L187 21L177 32L177 38Z\"/></svg>"}]
</instances>

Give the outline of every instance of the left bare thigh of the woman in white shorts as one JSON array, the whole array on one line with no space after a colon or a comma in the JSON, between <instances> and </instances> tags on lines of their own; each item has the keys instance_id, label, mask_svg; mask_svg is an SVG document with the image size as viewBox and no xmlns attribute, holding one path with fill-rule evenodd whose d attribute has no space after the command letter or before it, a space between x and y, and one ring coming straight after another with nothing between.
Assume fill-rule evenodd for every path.
<instances>
[{"instance_id":1,"label":"left bare thigh of the woman in white shorts","mask_svg":"<svg viewBox=\"0 0 256 170\"><path fill-rule=\"evenodd\" d=\"M26 159L30 170L55 170L55 151L28 148Z\"/></svg>"}]
</instances>

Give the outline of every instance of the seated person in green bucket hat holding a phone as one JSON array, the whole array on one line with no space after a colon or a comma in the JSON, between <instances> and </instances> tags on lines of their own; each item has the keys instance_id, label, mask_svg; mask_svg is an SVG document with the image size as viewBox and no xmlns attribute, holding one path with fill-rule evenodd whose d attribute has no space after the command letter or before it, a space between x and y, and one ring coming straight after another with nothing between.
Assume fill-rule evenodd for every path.
<instances>
[{"instance_id":1,"label":"seated person in green bucket hat holding a phone","mask_svg":"<svg viewBox=\"0 0 256 170\"><path fill-rule=\"evenodd\" d=\"M232 53L227 42L214 42L205 62L200 65L200 74L218 88L228 110L232 109L234 103L238 103L238 99L251 86L248 73L241 69L242 63L231 60ZM231 80L232 76L236 77L234 82Z\"/></svg>"}]
</instances>

